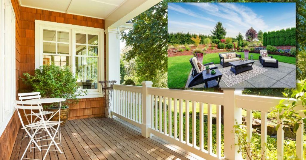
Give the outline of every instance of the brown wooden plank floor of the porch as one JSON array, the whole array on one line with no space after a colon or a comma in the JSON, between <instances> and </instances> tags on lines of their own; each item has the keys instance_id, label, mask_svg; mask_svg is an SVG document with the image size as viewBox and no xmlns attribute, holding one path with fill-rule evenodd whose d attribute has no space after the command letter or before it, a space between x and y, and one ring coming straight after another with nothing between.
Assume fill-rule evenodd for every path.
<instances>
[{"instance_id":1,"label":"brown wooden plank floor of the porch","mask_svg":"<svg viewBox=\"0 0 306 160\"><path fill-rule=\"evenodd\" d=\"M200 157L170 144L159 137L144 138L140 128L121 119L103 118L69 120L62 128L62 147L64 153L49 151L46 159L201 159ZM105 125L103 126L105 122ZM22 140L24 130L19 129L11 159L20 159L28 144ZM45 133L43 133L44 135ZM50 141L41 141L47 144ZM51 147L54 149L54 146ZM45 150L26 153L26 158L42 159Z\"/></svg>"}]
</instances>

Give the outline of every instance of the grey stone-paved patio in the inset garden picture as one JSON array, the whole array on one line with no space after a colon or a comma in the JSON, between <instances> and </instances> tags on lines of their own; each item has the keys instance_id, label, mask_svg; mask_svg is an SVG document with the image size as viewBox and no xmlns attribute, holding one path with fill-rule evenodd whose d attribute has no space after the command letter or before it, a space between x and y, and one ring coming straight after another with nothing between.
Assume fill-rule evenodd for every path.
<instances>
[{"instance_id":1,"label":"grey stone-paved patio in the inset garden picture","mask_svg":"<svg viewBox=\"0 0 306 160\"><path fill-rule=\"evenodd\" d=\"M292 88L292 87L295 87L295 80L296 80L296 77L295 77L296 66L295 65L284 63L284 62L278 62L278 68L273 68L273 67L263 67L260 64L259 60L254 60L254 61L255 62L253 65L258 66L260 68L267 69L267 71L260 73L256 76L253 76L249 79L246 79L244 81L241 81L237 84L234 84L230 86L231 88L252 88L252 87L257 87L257 88L260 88L260 87L274 87L274 88L288 87L288 88ZM215 65L218 67L218 69L223 68L222 65L220 64L215 64ZM190 82L191 72L188 76L188 80L187 80L185 87L187 87ZM193 87L203 88L204 85L205 84L199 84ZM227 87L227 85L225 84L222 78L220 80L219 87L222 87L222 88Z\"/></svg>"}]
</instances>

